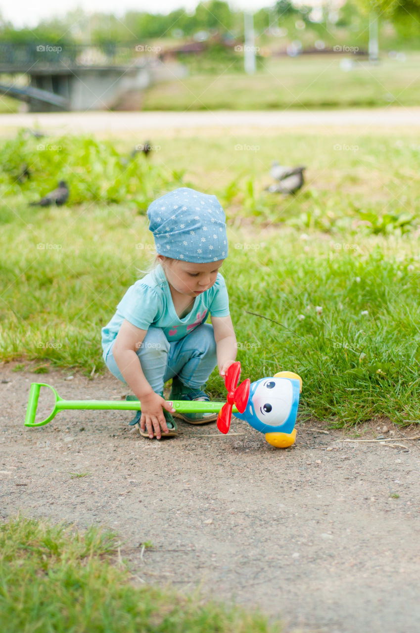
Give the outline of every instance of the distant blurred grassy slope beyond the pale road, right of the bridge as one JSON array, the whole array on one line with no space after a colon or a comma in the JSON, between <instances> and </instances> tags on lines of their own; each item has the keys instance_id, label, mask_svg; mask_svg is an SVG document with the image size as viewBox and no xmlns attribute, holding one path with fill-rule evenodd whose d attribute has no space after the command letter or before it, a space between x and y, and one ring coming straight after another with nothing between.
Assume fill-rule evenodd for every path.
<instances>
[{"instance_id":1,"label":"distant blurred grassy slope beyond the pale road, right of the bridge","mask_svg":"<svg viewBox=\"0 0 420 633\"><path fill-rule=\"evenodd\" d=\"M352 56L348 56L352 57ZM419 53L405 61L384 57L378 65L354 59L349 72L340 68L345 55L265 58L255 75L234 72L194 73L156 84L144 93L144 110L277 110L418 106Z\"/></svg>"}]
</instances>

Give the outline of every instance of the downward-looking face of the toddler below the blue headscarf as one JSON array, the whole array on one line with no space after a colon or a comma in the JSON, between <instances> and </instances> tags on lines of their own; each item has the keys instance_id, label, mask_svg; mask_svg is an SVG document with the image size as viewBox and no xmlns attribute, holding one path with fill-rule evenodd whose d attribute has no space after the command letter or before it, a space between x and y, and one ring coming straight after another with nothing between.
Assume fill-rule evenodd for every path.
<instances>
[{"instance_id":1,"label":"downward-looking face of the toddler below the blue headscarf","mask_svg":"<svg viewBox=\"0 0 420 633\"><path fill-rule=\"evenodd\" d=\"M194 264L189 261L170 260L158 255L169 285L180 294L197 297L208 290L216 281L217 273L224 260L211 261L205 264Z\"/></svg>"}]
</instances>

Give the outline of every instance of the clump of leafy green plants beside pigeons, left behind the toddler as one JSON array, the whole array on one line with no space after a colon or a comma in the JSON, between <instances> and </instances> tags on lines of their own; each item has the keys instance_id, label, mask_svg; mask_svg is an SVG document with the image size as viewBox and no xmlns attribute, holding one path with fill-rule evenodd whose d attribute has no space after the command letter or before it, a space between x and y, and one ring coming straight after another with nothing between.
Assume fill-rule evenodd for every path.
<instances>
[{"instance_id":1,"label":"clump of leafy green plants beside pigeons, left behind the toddler","mask_svg":"<svg viewBox=\"0 0 420 633\"><path fill-rule=\"evenodd\" d=\"M4 142L2 196L35 201L65 180L69 205L130 204L144 212L154 197L182 184L182 172L156 166L143 154L118 153L110 141L91 137L42 137L25 130ZM30 177L23 177L24 170Z\"/></svg>"}]
</instances>

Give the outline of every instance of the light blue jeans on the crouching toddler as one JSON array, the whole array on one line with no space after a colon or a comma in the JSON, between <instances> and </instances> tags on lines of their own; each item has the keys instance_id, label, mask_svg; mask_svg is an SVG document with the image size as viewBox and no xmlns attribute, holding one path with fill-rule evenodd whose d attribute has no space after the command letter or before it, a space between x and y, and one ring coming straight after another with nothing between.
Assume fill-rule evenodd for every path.
<instances>
[{"instance_id":1,"label":"light blue jeans on the crouching toddler","mask_svg":"<svg viewBox=\"0 0 420 633\"><path fill-rule=\"evenodd\" d=\"M125 382L112 353L106 354L106 367ZM168 341L160 327L150 327L136 351L144 376L155 393L163 391L163 384L174 376L186 387L200 389L217 365L216 342L210 323L198 325L179 341Z\"/></svg>"}]
</instances>

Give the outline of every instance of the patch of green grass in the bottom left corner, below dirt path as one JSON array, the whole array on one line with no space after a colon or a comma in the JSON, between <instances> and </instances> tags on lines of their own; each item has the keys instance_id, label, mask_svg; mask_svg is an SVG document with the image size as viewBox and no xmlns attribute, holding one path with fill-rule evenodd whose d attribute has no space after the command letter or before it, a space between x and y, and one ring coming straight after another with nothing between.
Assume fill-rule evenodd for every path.
<instances>
[{"instance_id":1,"label":"patch of green grass in the bottom left corner, below dirt path","mask_svg":"<svg viewBox=\"0 0 420 633\"><path fill-rule=\"evenodd\" d=\"M117 535L11 518L0 525L0 621L7 633L274 633L259 613L130 584ZM124 553L124 546L123 546ZM7 623L7 624L6 624ZM6 627L6 628L4 628Z\"/></svg>"}]
</instances>

